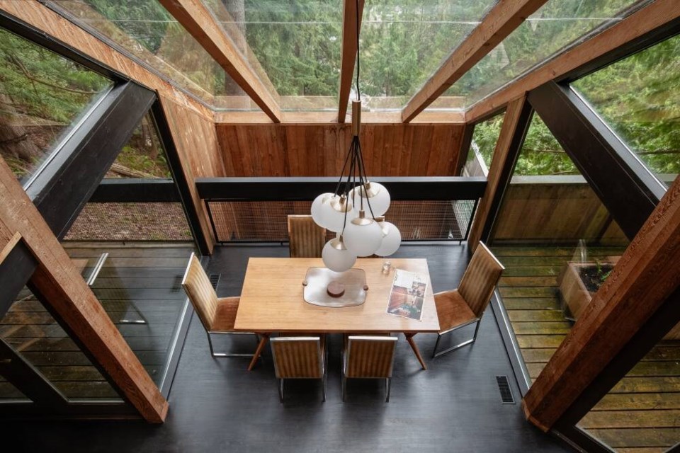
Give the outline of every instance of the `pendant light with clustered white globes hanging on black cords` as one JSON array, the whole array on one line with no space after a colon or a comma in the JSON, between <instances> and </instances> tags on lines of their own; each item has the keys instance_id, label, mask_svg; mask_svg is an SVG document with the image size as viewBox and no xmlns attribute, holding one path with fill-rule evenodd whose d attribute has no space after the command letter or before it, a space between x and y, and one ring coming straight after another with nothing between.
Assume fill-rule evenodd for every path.
<instances>
[{"instance_id":1,"label":"pendant light with clustered white globes hanging on black cords","mask_svg":"<svg viewBox=\"0 0 680 453\"><path fill-rule=\"evenodd\" d=\"M358 20L357 5L357 21ZM399 229L385 222L390 193L384 185L366 178L359 142L361 93L359 91L359 30L356 31L356 101L352 101L352 143L335 193L322 193L312 202L312 219L337 236L322 251L324 264L335 272L351 268L358 256L390 256L402 242ZM347 171L347 173L345 173ZM345 176L346 175L346 176ZM343 184L344 180L344 184ZM342 190L341 190L342 188Z\"/></svg>"}]
</instances>

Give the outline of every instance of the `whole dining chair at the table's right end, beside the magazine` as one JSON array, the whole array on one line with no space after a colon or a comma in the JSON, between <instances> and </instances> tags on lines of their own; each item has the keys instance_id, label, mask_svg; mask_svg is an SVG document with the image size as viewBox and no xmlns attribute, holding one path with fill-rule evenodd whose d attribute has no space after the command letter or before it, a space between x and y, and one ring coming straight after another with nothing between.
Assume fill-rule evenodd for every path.
<instances>
[{"instance_id":1,"label":"whole dining chair at the table's right end, beside the magazine","mask_svg":"<svg viewBox=\"0 0 680 453\"><path fill-rule=\"evenodd\" d=\"M465 269L458 288L434 294L440 330L432 351L432 357L438 357L462 348L477 340L482 315L489 305L504 269L485 243L480 242L477 250L472 254L472 259ZM437 352L439 340L443 335L470 326L473 323L477 323L477 326L475 326L475 334L470 340Z\"/></svg>"}]
</instances>

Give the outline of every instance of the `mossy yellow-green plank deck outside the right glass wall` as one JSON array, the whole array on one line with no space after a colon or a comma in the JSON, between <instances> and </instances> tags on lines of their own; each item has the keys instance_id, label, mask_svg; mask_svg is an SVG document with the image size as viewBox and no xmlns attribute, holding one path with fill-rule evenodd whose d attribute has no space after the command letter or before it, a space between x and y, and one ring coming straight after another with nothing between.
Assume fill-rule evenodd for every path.
<instances>
[{"instance_id":1,"label":"mossy yellow-green plank deck outside the right glass wall","mask_svg":"<svg viewBox=\"0 0 680 453\"><path fill-rule=\"evenodd\" d=\"M506 271L499 283L506 311L532 379L572 326L560 308L557 275L574 255L565 247L493 248ZM622 248L589 248L591 258ZM579 423L618 452L665 452L680 440L680 341L663 341L621 379Z\"/></svg>"}]
</instances>

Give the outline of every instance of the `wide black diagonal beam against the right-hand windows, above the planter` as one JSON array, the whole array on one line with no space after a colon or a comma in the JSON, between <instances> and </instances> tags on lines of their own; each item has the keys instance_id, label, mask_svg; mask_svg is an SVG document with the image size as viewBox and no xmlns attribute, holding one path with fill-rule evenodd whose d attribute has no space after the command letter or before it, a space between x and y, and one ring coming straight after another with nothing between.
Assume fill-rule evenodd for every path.
<instances>
[{"instance_id":1,"label":"wide black diagonal beam against the right-hand windows, above the planter","mask_svg":"<svg viewBox=\"0 0 680 453\"><path fill-rule=\"evenodd\" d=\"M633 239L665 188L571 88L548 82L528 100L574 165Z\"/></svg>"}]
</instances>

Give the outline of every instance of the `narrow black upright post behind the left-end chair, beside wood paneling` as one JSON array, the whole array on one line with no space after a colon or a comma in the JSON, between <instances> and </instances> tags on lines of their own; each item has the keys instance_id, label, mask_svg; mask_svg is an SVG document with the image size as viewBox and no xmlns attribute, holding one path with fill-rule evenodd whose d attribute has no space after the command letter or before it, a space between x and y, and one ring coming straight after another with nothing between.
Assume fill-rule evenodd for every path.
<instances>
[{"instance_id":1,"label":"narrow black upright post behind the left-end chair, beside wood paneling","mask_svg":"<svg viewBox=\"0 0 680 453\"><path fill-rule=\"evenodd\" d=\"M177 190L179 190L179 198L182 202L186 219L189 222L191 233L196 241L196 246L198 246L201 255L210 255L210 242L212 242L212 239L203 234L203 228L201 228L199 220L200 216L203 214L198 211L198 207L193 202L194 200L190 190L190 185L193 184L193 181L187 180L184 176L181 159L179 158L179 153L175 147L175 142L172 140L170 126L161 103L156 101L152 105L151 111L156 130L158 131L158 136L161 139L165 154L168 158L168 166L170 167L172 177L177 185Z\"/></svg>"}]
</instances>

